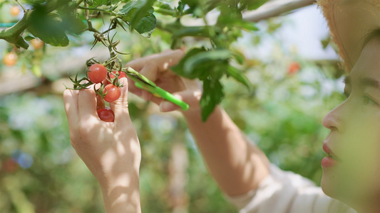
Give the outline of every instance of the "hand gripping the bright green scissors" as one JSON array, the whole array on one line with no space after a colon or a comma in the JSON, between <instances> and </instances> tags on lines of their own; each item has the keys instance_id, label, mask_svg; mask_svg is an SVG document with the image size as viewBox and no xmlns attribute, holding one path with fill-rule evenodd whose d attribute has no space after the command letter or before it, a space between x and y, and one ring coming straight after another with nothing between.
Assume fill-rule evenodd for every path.
<instances>
[{"instance_id":1,"label":"hand gripping the bright green scissors","mask_svg":"<svg viewBox=\"0 0 380 213\"><path fill-rule=\"evenodd\" d=\"M154 82L158 87L178 97L178 99L190 105L189 111L200 109L199 101L202 96L200 83L195 80L188 80L170 70L170 67L177 65L183 58L185 53L183 50L166 50L163 53L149 55L144 58L138 58L128 62L127 66L132 67L134 70L140 72L149 80ZM155 102L160 106L161 111L174 111L180 109L177 105L167 102L163 99L154 97L149 92L135 87L133 82L129 82L129 90L146 101Z\"/></svg>"}]
</instances>

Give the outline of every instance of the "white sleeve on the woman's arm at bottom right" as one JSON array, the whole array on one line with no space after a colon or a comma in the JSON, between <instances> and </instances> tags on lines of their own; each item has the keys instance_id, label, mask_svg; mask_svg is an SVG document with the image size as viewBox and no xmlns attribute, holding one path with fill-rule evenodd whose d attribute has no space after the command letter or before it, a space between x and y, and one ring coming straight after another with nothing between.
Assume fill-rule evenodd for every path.
<instances>
[{"instance_id":1,"label":"white sleeve on the woman's arm at bottom right","mask_svg":"<svg viewBox=\"0 0 380 213\"><path fill-rule=\"evenodd\" d=\"M226 196L240 213L354 213L346 204L324 195L311 180L270 165L270 175L257 190Z\"/></svg>"}]
</instances>

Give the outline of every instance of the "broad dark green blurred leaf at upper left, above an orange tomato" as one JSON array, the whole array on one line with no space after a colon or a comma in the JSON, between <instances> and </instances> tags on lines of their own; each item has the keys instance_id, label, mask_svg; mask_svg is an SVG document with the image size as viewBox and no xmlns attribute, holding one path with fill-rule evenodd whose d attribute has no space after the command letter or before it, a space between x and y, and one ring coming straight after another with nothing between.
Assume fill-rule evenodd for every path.
<instances>
[{"instance_id":1,"label":"broad dark green blurred leaf at upper left, above an orange tomato","mask_svg":"<svg viewBox=\"0 0 380 213\"><path fill-rule=\"evenodd\" d=\"M68 37L64 24L57 13L48 13L43 6L36 8L31 14L29 32L35 37L53 46L67 46Z\"/></svg>"}]
</instances>

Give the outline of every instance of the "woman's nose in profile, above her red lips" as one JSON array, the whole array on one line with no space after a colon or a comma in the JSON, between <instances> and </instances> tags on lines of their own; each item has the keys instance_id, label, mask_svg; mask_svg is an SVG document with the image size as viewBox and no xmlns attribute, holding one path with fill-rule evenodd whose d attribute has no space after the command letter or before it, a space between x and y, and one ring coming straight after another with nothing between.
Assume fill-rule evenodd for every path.
<instances>
[{"instance_id":1,"label":"woman's nose in profile, above her red lips","mask_svg":"<svg viewBox=\"0 0 380 213\"><path fill-rule=\"evenodd\" d=\"M345 104L346 102L343 102L342 104L339 104L338 107L332 109L332 111L329 111L329 113L324 116L322 125L330 130L343 131L344 121L342 121L342 119Z\"/></svg>"}]
</instances>

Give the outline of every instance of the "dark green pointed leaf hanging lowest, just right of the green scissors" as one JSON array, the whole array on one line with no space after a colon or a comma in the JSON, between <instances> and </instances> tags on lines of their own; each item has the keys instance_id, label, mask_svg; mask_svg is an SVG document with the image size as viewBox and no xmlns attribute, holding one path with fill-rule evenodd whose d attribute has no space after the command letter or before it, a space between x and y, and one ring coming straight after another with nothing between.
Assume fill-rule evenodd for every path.
<instances>
[{"instance_id":1,"label":"dark green pointed leaf hanging lowest, just right of the green scissors","mask_svg":"<svg viewBox=\"0 0 380 213\"><path fill-rule=\"evenodd\" d=\"M220 104L224 96L223 87L219 80L207 78L203 81L203 94L200 99L202 121L207 120L208 116L214 111L217 104Z\"/></svg>"}]
</instances>

